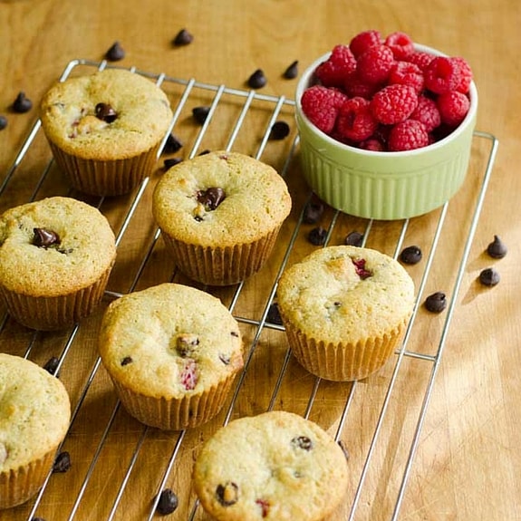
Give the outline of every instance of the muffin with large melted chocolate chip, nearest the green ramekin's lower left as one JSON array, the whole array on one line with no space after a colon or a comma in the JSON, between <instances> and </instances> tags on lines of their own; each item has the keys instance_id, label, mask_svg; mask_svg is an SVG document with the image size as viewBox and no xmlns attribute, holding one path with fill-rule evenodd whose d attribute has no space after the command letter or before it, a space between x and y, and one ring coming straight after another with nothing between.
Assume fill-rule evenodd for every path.
<instances>
[{"instance_id":1,"label":"muffin with large melted chocolate chip, nearest the green ramekin's lower left","mask_svg":"<svg viewBox=\"0 0 521 521\"><path fill-rule=\"evenodd\" d=\"M270 256L291 198L275 169L217 151L169 169L152 210L178 269L206 285L233 285Z\"/></svg>"}]
</instances>

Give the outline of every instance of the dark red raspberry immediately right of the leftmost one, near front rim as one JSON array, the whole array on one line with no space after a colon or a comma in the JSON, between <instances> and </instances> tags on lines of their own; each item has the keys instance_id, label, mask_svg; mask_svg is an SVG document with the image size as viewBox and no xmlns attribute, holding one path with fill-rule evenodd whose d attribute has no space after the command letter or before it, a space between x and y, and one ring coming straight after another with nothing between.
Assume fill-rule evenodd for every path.
<instances>
[{"instance_id":1,"label":"dark red raspberry immediately right of the leftmost one, near front rim","mask_svg":"<svg viewBox=\"0 0 521 521\"><path fill-rule=\"evenodd\" d=\"M343 102L336 120L336 130L343 138L367 140L377 127L378 122L372 117L368 100L351 98Z\"/></svg>"}]
</instances>

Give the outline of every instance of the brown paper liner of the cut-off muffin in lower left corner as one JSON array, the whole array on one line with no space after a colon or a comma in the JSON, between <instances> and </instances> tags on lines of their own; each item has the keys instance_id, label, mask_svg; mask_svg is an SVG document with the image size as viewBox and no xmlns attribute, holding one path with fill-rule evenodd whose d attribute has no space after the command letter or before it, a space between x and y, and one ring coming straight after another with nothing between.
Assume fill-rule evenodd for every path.
<instances>
[{"instance_id":1,"label":"brown paper liner of the cut-off muffin in lower left corner","mask_svg":"<svg viewBox=\"0 0 521 521\"><path fill-rule=\"evenodd\" d=\"M53 467L56 449L23 467L0 472L0 510L22 505L38 493Z\"/></svg>"}]
</instances>

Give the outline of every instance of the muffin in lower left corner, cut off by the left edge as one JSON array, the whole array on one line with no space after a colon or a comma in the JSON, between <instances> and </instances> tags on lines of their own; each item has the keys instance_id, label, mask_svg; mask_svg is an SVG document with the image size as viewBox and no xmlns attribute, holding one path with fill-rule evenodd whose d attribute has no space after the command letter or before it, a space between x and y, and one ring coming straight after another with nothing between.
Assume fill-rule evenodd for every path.
<instances>
[{"instance_id":1,"label":"muffin in lower left corner, cut off by the left edge","mask_svg":"<svg viewBox=\"0 0 521 521\"><path fill-rule=\"evenodd\" d=\"M63 383L34 362L0 353L0 509L38 492L71 420Z\"/></svg>"}]
</instances>

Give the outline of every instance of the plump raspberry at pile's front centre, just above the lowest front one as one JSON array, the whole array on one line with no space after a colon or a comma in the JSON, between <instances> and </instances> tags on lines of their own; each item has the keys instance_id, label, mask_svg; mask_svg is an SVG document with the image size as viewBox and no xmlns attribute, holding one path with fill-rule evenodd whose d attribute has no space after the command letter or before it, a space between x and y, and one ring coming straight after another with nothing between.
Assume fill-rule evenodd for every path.
<instances>
[{"instance_id":1,"label":"plump raspberry at pile's front centre, just above the lowest front one","mask_svg":"<svg viewBox=\"0 0 521 521\"><path fill-rule=\"evenodd\" d=\"M388 85L374 94L372 115L384 125L407 120L418 105L418 94L410 85Z\"/></svg>"}]
</instances>

